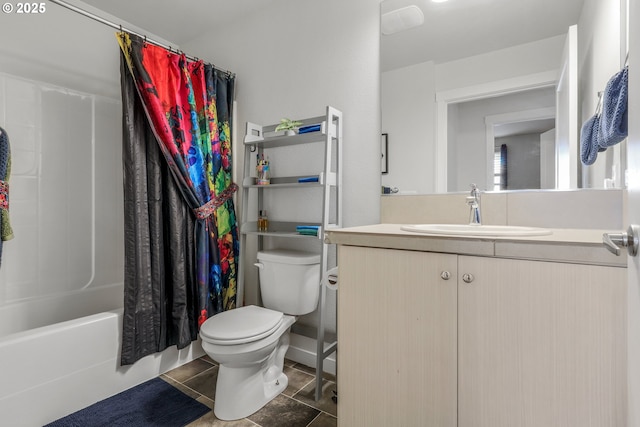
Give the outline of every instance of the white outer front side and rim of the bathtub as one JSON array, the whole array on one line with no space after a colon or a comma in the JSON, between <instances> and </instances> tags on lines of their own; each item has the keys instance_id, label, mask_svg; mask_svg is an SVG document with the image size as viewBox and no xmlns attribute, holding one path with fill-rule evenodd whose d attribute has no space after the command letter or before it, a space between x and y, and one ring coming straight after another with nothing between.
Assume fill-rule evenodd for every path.
<instances>
[{"instance_id":1,"label":"white outer front side and rim of the bathtub","mask_svg":"<svg viewBox=\"0 0 640 427\"><path fill-rule=\"evenodd\" d=\"M121 330L118 310L0 339L2 425L44 425L204 354L194 342L121 367Z\"/></svg>"}]
</instances>

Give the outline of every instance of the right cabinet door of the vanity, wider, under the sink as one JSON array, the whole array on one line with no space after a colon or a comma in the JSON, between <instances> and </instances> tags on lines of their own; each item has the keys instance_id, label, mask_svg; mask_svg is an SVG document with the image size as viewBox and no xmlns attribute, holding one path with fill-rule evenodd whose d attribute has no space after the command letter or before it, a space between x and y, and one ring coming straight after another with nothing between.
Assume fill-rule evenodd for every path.
<instances>
[{"instance_id":1,"label":"right cabinet door of the vanity, wider, under the sink","mask_svg":"<svg viewBox=\"0 0 640 427\"><path fill-rule=\"evenodd\" d=\"M459 426L624 426L626 269L460 257Z\"/></svg>"}]
</instances>

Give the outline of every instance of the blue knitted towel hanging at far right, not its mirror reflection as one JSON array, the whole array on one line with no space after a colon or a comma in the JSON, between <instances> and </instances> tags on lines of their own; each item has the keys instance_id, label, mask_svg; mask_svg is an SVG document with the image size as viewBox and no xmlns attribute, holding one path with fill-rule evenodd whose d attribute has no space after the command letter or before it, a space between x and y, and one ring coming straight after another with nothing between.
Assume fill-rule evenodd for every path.
<instances>
[{"instance_id":1,"label":"blue knitted towel hanging at far right, not its mirror reflection","mask_svg":"<svg viewBox=\"0 0 640 427\"><path fill-rule=\"evenodd\" d=\"M604 90L598 145L611 147L627 137L629 67L616 73Z\"/></svg>"}]
</instances>

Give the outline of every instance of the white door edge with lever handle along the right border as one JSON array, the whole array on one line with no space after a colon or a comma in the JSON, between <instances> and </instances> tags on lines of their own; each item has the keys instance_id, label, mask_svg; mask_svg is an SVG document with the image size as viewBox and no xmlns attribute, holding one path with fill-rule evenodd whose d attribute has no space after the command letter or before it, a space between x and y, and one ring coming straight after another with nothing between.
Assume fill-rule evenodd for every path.
<instances>
[{"instance_id":1,"label":"white door edge with lever handle along the right border","mask_svg":"<svg viewBox=\"0 0 640 427\"><path fill-rule=\"evenodd\" d=\"M629 2L629 138L627 221L640 224L640 2ZM628 426L640 427L640 259L627 258Z\"/></svg>"}]
</instances>

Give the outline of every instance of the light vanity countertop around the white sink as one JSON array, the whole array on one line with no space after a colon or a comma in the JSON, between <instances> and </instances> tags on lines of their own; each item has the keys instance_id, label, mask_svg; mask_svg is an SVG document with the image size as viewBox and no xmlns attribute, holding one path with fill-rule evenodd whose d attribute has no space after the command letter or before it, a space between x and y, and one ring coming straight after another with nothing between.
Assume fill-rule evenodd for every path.
<instances>
[{"instance_id":1,"label":"light vanity countertop around the white sink","mask_svg":"<svg viewBox=\"0 0 640 427\"><path fill-rule=\"evenodd\" d=\"M615 230L551 229L546 236L471 237L404 231L405 224L376 224L327 230L328 243L375 248L443 252L499 258L532 259L579 264L627 266L627 253L620 256L602 244L602 234Z\"/></svg>"}]
</instances>

